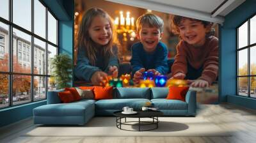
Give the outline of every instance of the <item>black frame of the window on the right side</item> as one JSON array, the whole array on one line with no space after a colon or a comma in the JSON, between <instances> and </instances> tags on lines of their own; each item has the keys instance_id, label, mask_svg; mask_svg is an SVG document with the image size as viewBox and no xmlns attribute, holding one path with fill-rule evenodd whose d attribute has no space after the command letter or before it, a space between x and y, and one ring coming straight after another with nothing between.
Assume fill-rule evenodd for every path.
<instances>
[{"instance_id":1,"label":"black frame of the window on the right side","mask_svg":"<svg viewBox=\"0 0 256 143\"><path fill-rule=\"evenodd\" d=\"M256 46L256 43L252 43L250 44L250 20L256 17L256 13L254 13L253 15L251 15L250 17L248 17L248 19L244 20L239 26L236 27L236 95L237 96L243 96L241 94L239 94L239 78L240 77L247 77L247 96L243 96L243 97L247 97L247 98L253 98L255 99L255 97L251 96L251 86L250 86L250 79L252 77L256 77L256 75L251 75L251 63L250 63L250 58L251 58L251 54L250 54L250 50ZM239 27L243 26L243 24L245 24L246 22L248 22L248 41L247 41L247 45L244 47L239 48ZM248 67L247 67L247 75L239 75L239 51L247 49L247 63L248 63Z\"/></svg>"}]
</instances>

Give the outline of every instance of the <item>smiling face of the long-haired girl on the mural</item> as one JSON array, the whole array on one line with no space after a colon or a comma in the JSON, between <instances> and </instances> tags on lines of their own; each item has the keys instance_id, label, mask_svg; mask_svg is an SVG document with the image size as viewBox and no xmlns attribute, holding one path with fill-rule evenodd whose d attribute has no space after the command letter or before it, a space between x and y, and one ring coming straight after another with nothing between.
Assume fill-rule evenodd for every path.
<instances>
[{"instance_id":1,"label":"smiling face of the long-haired girl on the mural","mask_svg":"<svg viewBox=\"0 0 256 143\"><path fill-rule=\"evenodd\" d=\"M112 36L112 29L108 19L101 16L94 17L89 27L89 35L98 45L107 45Z\"/></svg>"}]
</instances>

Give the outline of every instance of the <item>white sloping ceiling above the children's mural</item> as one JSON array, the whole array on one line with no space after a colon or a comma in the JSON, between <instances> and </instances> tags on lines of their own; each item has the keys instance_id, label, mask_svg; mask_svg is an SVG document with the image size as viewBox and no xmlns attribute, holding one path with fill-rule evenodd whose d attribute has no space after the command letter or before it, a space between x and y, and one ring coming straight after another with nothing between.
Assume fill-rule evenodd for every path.
<instances>
[{"instance_id":1,"label":"white sloping ceiling above the children's mural","mask_svg":"<svg viewBox=\"0 0 256 143\"><path fill-rule=\"evenodd\" d=\"M245 0L107 0L222 24L224 17ZM222 6L221 3L225 2ZM218 8L220 6L220 8ZM216 9L218 8L218 9ZM215 10L215 11L214 11Z\"/></svg>"}]
</instances>

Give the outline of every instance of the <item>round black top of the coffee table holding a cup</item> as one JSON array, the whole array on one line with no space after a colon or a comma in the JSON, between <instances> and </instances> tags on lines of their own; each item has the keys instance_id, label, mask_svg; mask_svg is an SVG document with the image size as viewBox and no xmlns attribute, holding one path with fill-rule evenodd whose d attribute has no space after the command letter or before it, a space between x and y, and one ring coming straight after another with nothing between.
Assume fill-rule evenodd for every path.
<instances>
[{"instance_id":1,"label":"round black top of the coffee table holding a cup","mask_svg":"<svg viewBox=\"0 0 256 143\"><path fill-rule=\"evenodd\" d=\"M159 110L136 110L137 114L122 114L123 110L114 112L116 117L159 117L163 116L163 112Z\"/></svg>"}]
</instances>

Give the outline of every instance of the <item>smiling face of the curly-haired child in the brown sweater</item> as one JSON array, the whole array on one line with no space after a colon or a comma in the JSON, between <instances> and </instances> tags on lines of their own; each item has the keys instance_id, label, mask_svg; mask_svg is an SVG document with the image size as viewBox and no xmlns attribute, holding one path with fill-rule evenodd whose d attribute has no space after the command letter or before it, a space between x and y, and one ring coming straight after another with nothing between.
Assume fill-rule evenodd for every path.
<instances>
[{"instance_id":1,"label":"smiling face of the curly-haired child in the brown sweater","mask_svg":"<svg viewBox=\"0 0 256 143\"><path fill-rule=\"evenodd\" d=\"M205 43L207 28L200 21L183 19L179 25L180 36L194 47L200 47Z\"/></svg>"}]
</instances>

